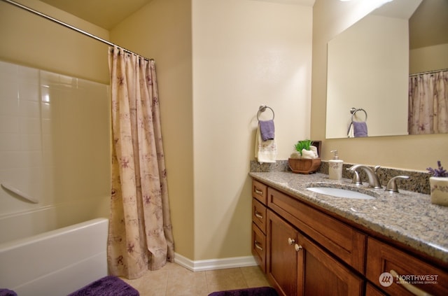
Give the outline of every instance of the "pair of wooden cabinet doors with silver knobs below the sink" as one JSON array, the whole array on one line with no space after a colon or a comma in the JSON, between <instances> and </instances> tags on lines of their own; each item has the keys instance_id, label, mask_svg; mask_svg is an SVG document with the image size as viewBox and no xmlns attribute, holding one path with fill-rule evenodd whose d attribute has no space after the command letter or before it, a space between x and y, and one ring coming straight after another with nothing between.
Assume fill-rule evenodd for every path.
<instances>
[{"instance_id":1,"label":"pair of wooden cabinet doors with silver knobs below the sink","mask_svg":"<svg viewBox=\"0 0 448 296\"><path fill-rule=\"evenodd\" d=\"M267 210L267 276L280 295L363 295L356 276Z\"/></svg>"}]
</instances>

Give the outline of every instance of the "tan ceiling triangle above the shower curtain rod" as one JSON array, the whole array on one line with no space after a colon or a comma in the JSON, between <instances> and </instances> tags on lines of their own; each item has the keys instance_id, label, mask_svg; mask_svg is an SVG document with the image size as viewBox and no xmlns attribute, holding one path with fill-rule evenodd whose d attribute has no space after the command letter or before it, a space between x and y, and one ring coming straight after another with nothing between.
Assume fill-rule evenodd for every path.
<instances>
[{"instance_id":1,"label":"tan ceiling triangle above the shower curtain rod","mask_svg":"<svg viewBox=\"0 0 448 296\"><path fill-rule=\"evenodd\" d=\"M152 0L41 0L110 30Z\"/></svg>"}]
</instances>

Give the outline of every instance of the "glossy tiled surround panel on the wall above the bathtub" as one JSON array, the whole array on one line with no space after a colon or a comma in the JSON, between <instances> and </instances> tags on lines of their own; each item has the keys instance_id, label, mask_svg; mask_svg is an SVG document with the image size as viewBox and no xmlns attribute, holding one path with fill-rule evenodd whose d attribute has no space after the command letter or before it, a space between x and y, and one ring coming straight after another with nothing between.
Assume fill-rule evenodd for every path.
<instances>
[{"instance_id":1,"label":"glossy tiled surround panel on the wall above the bathtub","mask_svg":"<svg viewBox=\"0 0 448 296\"><path fill-rule=\"evenodd\" d=\"M108 216L108 92L0 61L0 183L38 201L0 187L0 243Z\"/></svg>"}]
</instances>

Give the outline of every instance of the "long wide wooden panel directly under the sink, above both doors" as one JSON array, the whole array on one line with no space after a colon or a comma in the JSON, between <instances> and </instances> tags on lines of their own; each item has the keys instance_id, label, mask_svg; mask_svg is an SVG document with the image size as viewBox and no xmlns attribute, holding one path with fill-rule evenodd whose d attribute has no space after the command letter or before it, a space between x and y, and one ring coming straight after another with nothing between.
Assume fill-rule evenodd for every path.
<instances>
[{"instance_id":1,"label":"long wide wooden panel directly under the sink, above both doors","mask_svg":"<svg viewBox=\"0 0 448 296\"><path fill-rule=\"evenodd\" d=\"M267 190L267 205L337 258L364 274L365 234L272 188Z\"/></svg>"}]
</instances>

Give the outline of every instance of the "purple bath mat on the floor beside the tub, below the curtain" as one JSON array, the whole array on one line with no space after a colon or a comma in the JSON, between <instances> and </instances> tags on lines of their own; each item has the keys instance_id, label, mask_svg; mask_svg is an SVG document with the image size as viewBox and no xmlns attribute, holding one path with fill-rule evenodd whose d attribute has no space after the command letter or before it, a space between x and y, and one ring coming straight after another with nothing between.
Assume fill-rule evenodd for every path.
<instances>
[{"instance_id":1,"label":"purple bath mat on the floor beside the tub, below the curtain","mask_svg":"<svg viewBox=\"0 0 448 296\"><path fill-rule=\"evenodd\" d=\"M139 291L116 276L104 276L68 296L139 296Z\"/></svg>"}]
</instances>

